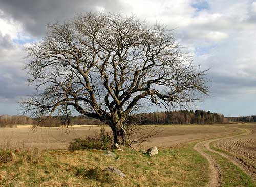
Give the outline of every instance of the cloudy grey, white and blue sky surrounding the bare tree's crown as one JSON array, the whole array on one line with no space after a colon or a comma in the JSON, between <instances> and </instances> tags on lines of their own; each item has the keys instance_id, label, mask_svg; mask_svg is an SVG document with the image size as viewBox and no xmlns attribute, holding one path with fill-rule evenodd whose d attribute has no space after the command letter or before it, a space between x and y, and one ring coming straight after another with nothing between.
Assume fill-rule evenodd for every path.
<instances>
[{"instance_id":1,"label":"cloudy grey, white and blue sky surrounding the bare tree's crown","mask_svg":"<svg viewBox=\"0 0 256 187\"><path fill-rule=\"evenodd\" d=\"M225 116L256 115L256 1L251 0L0 0L0 114L18 114L35 92L23 67L24 47L46 35L46 24L77 13L135 14L175 29L194 63L210 68L210 96L194 108Z\"/></svg>"}]
</instances>

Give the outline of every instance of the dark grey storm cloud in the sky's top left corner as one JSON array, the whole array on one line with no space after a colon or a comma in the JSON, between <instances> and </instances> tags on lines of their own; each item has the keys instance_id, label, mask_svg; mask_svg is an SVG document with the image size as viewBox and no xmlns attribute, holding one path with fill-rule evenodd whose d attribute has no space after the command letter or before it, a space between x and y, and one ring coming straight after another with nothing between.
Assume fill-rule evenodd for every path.
<instances>
[{"instance_id":1,"label":"dark grey storm cloud in the sky's top left corner","mask_svg":"<svg viewBox=\"0 0 256 187\"><path fill-rule=\"evenodd\" d=\"M22 22L25 30L34 36L45 34L47 23L72 18L76 13L100 10L118 12L124 7L117 0L0 0L0 9L5 17Z\"/></svg>"}]
</instances>

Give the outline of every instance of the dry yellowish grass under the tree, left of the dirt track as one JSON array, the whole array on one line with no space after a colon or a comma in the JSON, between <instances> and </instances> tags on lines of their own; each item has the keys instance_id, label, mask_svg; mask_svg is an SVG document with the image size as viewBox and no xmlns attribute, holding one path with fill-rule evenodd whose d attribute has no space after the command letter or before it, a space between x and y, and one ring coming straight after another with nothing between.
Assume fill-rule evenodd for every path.
<instances>
[{"instance_id":1,"label":"dry yellowish grass under the tree, left of the dirt track","mask_svg":"<svg viewBox=\"0 0 256 187\"><path fill-rule=\"evenodd\" d=\"M117 158L99 150L4 150L0 186L204 186L208 163L193 146L160 149L154 157L126 149L115 152ZM126 177L103 172L106 167L117 167Z\"/></svg>"}]
</instances>

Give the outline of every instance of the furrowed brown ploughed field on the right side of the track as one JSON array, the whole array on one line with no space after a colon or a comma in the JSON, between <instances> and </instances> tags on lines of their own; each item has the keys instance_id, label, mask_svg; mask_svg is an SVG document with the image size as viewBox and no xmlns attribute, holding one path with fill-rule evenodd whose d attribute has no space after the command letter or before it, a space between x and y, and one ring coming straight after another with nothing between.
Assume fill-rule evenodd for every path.
<instances>
[{"instance_id":1,"label":"furrowed brown ploughed field on the right side of the track","mask_svg":"<svg viewBox=\"0 0 256 187\"><path fill-rule=\"evenodd\" d=\"M214 146L231 153L243 169L256 180L256 124L233 124L226 126L246 128L252 133L216 141Z\"/></svg>"}]
</instances>

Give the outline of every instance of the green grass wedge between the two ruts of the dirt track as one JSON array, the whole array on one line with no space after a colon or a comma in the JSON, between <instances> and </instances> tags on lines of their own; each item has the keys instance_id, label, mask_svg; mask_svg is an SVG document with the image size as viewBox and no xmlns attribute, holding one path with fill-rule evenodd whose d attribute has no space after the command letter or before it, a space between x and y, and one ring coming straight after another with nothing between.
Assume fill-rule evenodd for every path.
<instances>
[{"instance_id":1,"label":"green grass wedge between the two ruts of the dirt track","mask_svg":"<svg viewBox=\"0 0 256 187\"><path fill-rule=\"evenodd\" d=\"M211 151L205 152L211 155L221 168L221 186L222 187L255 187L256 183L253 182L250 176L248 176L242 169L234 165L228 159L222 157Z\"/></svg>"}]
</instances>

